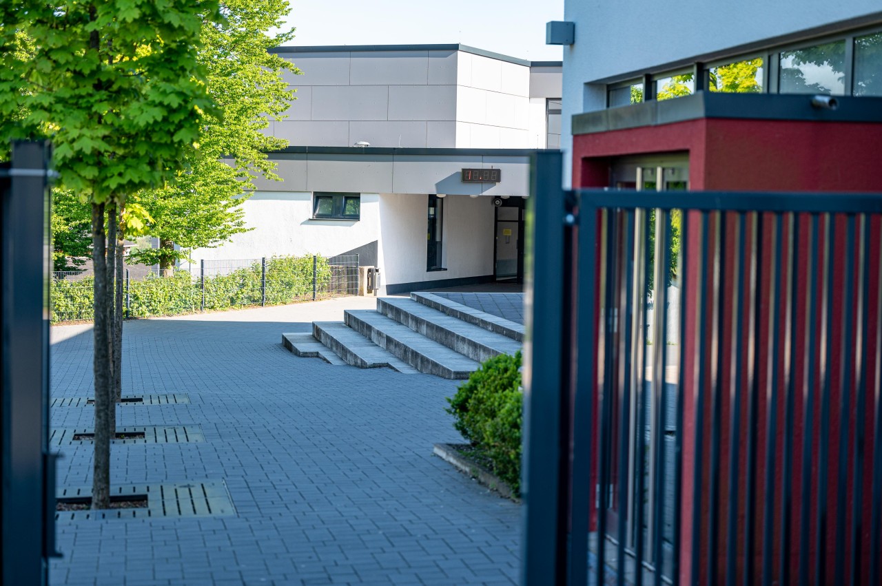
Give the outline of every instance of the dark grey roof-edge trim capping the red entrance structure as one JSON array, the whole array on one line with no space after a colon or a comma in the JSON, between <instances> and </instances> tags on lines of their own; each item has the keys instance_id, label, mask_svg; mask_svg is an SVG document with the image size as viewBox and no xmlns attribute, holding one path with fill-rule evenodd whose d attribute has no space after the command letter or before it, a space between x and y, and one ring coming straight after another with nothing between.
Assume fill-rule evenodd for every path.
<instances>
[{"instance_id":1,"label":"dark grey roof-edge trim capping the red entrance structure","mask_svg":"<svg viewBox=\"0 0 882 586\"><path fill-rule=\"evenodd\" d=\"M835 110L811 106L811 94L696 92L572 116L572 134L593 134L699 118L806 122L882 122L882 98L836 96Z\"/></svg>"}]
</instances>

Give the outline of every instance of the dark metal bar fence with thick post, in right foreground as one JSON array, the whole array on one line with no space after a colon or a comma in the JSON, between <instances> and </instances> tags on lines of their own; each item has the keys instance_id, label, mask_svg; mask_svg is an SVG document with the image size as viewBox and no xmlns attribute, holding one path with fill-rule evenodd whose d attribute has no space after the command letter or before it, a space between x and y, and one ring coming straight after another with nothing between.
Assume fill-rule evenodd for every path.
<instances>
[{"instance_id":1,"label":"dark metal bar fence with thick post, in right foreground","mask_svg":"<svg viewBox=\"0 0 882 586\"><path fill-rule=\"evenodd\" d=\"M882 583L882 195L538 160L523 582Z\"/></svg>"}]
</instances>

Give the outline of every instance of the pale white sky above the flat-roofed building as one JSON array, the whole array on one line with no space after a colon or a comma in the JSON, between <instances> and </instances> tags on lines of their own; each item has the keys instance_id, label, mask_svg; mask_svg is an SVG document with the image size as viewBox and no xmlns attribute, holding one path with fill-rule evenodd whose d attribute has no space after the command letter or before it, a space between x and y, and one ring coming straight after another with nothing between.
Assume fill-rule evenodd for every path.
<instances>
[{"instance_id":1,"label":"pale white sky above the flat-roofed building","mask_svg":"<svg viewBox=\"0 0 882 586\"><path fill-rule=\"evenodd\" d=\"M545 23L564 0L290 0L289 45L461 43L530 61L560 61Z\"/></svg>"}]
</instances>

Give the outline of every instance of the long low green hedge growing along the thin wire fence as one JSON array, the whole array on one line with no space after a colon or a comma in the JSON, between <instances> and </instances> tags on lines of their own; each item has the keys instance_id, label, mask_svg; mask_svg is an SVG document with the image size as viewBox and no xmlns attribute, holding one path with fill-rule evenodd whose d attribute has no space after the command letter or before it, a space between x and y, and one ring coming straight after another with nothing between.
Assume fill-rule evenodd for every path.
<instances>
[{"instance_id":1,"label":"long low green hedge growing along the thin wire fence","mask_svg":"<svg viewBox=\"0 0 882 586\"><path fill-rule=\"evenodd\" d=\"M275 256L266 260L266 305L281 305L312 299L312 256ZM317 256L316 291L321 296L333 293L333 269L328 259ZM93 319L93 277L52 279L52 323ZM252 263L226 275L205 279L206 310L223 310L261 305L261 266ZM129 317L181 315L202 308L202 281L188 271L173 277L151 275L131 281L127 288Z\"/></svg>"}]
</instances>

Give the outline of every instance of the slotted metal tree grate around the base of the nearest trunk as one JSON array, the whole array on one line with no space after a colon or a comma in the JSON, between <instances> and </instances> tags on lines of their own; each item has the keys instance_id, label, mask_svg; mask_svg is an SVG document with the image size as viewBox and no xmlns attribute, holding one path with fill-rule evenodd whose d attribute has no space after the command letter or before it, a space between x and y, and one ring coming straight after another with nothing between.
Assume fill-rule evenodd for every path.
<instances>
[{"instance_id":1,"label":"slotted metal tree grate around the base of the nearest trunk","mask_svg":"<svg viewBox=\"0 0 882 586\"><path fill-rule=\"evenodd\" d=\"M147 519L168 517L235 516L235 507L223 480L162 483L154 485L113 486L111 499L147 498L146 508L111 508L107 510L57 511L56 521L86 519ZM91 500L92 487L64 488L56 493L58 501Z\"/></svg>"}]
</instances>

